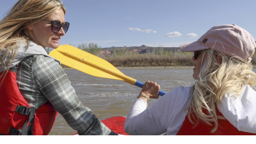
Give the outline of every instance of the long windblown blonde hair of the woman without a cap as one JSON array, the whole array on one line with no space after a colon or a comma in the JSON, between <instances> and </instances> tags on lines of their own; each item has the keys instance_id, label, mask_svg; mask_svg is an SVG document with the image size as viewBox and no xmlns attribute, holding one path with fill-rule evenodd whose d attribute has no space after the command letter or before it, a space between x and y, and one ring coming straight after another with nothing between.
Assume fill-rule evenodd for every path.
<instances>
[{"instance_id":1,"label":"long windblown blonde hair of the woman without a cap","mask_svg":"<svg viewBox=\"0 0 256 144\"><path fill-rule=\"evenodd\" d=\"M25 35L24 29L59 9L66 13L61 0L19 0L0 21L0 52L4 52L0 67L9 70L21 43L27 43L28 49L30 40L33 40ZM7 55L11 59L6 64L4 60Z\"/></svg>"}]
</instances>

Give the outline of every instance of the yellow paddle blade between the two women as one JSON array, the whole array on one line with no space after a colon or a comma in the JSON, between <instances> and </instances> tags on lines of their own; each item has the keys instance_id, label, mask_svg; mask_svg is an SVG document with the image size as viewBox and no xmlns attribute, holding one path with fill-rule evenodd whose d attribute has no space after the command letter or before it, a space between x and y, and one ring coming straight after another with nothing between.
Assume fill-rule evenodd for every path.
<instances>
[{"instance_id":1,"label":"yellow paddle blade between the two women","mask_svg":"<svg viewBox=\"0 0 256 144\"><path fill-rule=\"evenodd\" d=\"M122 80L135 84L136 80L124 75L108 61L71 45L61 45L49 53L62 64L92 76Z\"/></svg>"}]
</instances>

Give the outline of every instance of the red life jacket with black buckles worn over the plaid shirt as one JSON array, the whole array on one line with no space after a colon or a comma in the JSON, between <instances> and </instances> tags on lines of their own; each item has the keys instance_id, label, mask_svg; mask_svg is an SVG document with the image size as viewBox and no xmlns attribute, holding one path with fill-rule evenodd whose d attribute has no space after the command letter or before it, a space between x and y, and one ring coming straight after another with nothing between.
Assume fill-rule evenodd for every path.
<instances>
[{"instance_id":1,"label":"red life jacket with black buckles worn over the plaid shirt","mask_svg":"<svg viewBox=\"0 0 256 144\"><path fill-rule=\"evenodd\" d=\"M49 101L38 109L30 108L17 86L17 68L0 73L0 134L47 135L57 111Z\"/></svg>"}]
</instances>

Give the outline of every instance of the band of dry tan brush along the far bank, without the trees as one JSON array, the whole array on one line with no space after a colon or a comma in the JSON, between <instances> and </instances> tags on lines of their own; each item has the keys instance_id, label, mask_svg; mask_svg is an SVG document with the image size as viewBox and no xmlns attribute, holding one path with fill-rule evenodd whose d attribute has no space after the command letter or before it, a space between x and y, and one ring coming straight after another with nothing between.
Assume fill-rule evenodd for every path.
<instances>
[{"instance_id":1,"label":"band of dry tan brush along the far bank, without the trees","mask_svg":"<svg viewBox=\"0 0 256 144\"><path fill-rule=\"evenodd\" d=\"M194 68L192 52L162 51L162 53L135 54L129 51L98 55L117 69L188 69ZM63 69L72 69L62 65Z\"/></svg>"}]
</instances>

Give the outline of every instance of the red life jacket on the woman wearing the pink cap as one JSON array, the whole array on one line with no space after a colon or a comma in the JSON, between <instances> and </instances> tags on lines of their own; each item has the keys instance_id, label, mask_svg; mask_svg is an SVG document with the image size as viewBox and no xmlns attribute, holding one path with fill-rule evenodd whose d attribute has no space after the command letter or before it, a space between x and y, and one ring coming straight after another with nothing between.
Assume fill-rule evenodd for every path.
<instances>
[{"instance_id":1,"label":"red life jacket on the woman wearing the pink cap","mask_svg":"<svg viewBox=\"0 0 256 144\"><path fill-rule=\"evenodd\" d=\"M219 116L223 116L217 106L216 106L216 114ZM206 114L206 110L203 110ZM193 122L196 122L191 116ZM179 129L176 135L256 135L255 133L248 133L239 131L236 127L234 127L227 119L218 119L218 128L215 132L211 133L211 130L214 127L214 122L211 122L211 125L205 124L203 121L199 120L198 125L195 127L195 124L192 124L188 115L186 115L184 122L182 123L181 128Z\"/></svg>"}]
</instances>

